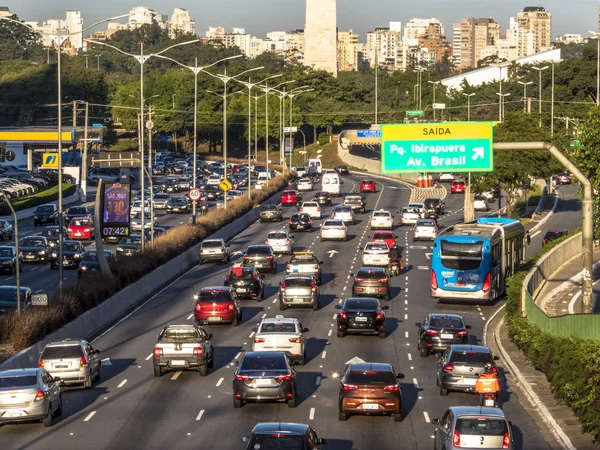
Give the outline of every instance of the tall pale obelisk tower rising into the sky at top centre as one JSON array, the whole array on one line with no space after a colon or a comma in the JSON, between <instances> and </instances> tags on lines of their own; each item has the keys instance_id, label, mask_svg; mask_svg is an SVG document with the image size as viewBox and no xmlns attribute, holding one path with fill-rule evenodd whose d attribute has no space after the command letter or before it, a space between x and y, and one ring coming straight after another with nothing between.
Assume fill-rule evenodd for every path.
<instances>
[{"instance_id":1,"label":"tall pale obelisk tower rising into the sky at top centre","mask_svg":"<svg viewBox=\"0 0 600 450\"><path fill-rule=\"evenodd\" d=\"M337 75L336 0L306 0L304 63Z\"/></svg>"}]
</instances>

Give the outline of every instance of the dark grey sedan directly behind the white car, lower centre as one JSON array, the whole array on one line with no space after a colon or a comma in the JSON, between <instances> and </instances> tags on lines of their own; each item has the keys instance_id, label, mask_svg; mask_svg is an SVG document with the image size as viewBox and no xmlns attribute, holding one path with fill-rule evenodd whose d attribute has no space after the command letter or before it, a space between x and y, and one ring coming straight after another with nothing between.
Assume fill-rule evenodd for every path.
<instances>
[{"instance_id":1,"label":"dark grey sedan directly behind the white car, lower centre","mask_svg":"<svg viewBox=\"0 0 600 450\"><path fill-rule=\"evenodd\" d=\"M266 400L295 408L296 371L283 352L247 352L234 374L233 407Z\"/></svg>"}]
</instances>

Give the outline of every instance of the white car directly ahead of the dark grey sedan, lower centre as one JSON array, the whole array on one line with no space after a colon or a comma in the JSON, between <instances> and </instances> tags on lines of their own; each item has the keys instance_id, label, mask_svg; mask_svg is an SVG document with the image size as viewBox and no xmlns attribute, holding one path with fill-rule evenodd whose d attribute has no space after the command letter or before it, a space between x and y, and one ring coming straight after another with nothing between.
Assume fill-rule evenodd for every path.
<instances>
[{"instance_id":1,"label":"white car directly ahead of the dark grey sedan, lower centre","mask_svg":"<svg viewBox=\"0 0 600 450\"><path fill-rule=\"evenodd\" d=\"M258 325L253 352L284 352L300 364L306 362L306 337L308 328L302 327L298 319L275 316L263 319Z\"/></svg>"}]
</instances>

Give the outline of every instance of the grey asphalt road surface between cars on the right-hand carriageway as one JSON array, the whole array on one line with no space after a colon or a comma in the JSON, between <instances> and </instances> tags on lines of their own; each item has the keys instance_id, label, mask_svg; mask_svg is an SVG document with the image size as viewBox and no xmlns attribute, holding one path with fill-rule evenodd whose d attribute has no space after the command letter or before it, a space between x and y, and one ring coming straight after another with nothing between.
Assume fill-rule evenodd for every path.
<instances>
[{"instance_id":1,"label":"grey asphalt road surface between cars on the right-hand carriageway","mask_svg":"<svg viewBox=\"0 0 600 450\"><path fill-rule=\"evenodd\" d=\"M356 189L360 177L347 177L344 191ZM367 194L367 209L383 208L397 211L408 203L410 191L394 181L378 183L379 192ZM335 200L337 203L339 200ZM460 221L462 195L449 196L446 206L450 213L441 223ZM325 207L324 217L332 207ZM285 217L293 212L285 209ZM323 259L324 284L321 289L321 309L279 311L276 303L279 283L284 277L287 257L279 259L279 272L266 276L266 300L244 301L243 322L208 326L214 333L215 366L206 378L196 372L171 372L155 378L152 371L152 351L156 335L168 323L193 323L192 295L200 286L221 285L227 265L195 267L146 304L100 336L94 346L103 350L102 357L110 365L102 367L102 381L89 391L69 389L64 392L65 409L51 432L39 424L5 426L0 438L7 448L147 448L163 449L214 446L218 436L219 449L242 448L240 438L257 422L289 421L310 423L320 436L329 439L325 448L430 449L433 426L430 419L440 417L451 405L475 405L474 395L452 393L440 397L435 386L435 357L421 359L416 351L415 322L433 311L458 312L473 326L472 335L481 339L485 319L499 304L476 306L437 305L429 295L429 243L412 243L409 228L397 228L399 243L404 247L407 270L392 279L386 331L388 337L335 335L334 306L351 295L350 270L360 267L360 246L367 241L369 214L358 215L358 223L350 226L348 242L324 242L318 232L295 233L295 249L314 250ZM397 219L397 217L396 217ZM322 221L316 221L318 224ZM256 223L232 241L232 252L243 252L248 245L264 242L268 230L285 226L285 222ZM411 248L412 247L412 248ZM338 253L332 258L329 251ZM237 253L239 255L239 253ZM238 256L239 258L239 256ZM275 303L274 303L275 301ZM232 407L232 361L241 352L250 350L253 332L260 319L283 314L299 318L308 333L305 366L298 366L298 406L284 404L248 404L240 410ZM333 372L341 371L345 362L358 356L366 361L391 362L406 375L402 384L404 396L403 423L395 424L390 417L351 417L348 422L337 418L338 384ZM513 422L518 449L548 448L536 424L529 418L514 396L505 399L503 409ZM86 420L87 419L87 420ZM523 434L527 434L526 438ZM525 440L526 439L526 440ZM523 442L525 440L525 442Z\"/></svg>"}]
</instances>

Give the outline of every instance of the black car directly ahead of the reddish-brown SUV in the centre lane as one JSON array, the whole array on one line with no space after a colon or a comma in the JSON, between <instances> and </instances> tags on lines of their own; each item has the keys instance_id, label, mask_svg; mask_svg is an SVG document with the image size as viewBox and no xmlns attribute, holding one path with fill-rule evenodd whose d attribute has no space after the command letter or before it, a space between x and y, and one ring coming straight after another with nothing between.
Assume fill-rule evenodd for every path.
<instances>
[{"instance_id":1,"label":"black car directly ahead of the reddish-brown SUV in the centre lane","mask_svg":"<svg viewBox=\"0 0 600 450\"><path fill-rule=\"evenodd\" d=\"M378 334L385 339L385 309L376 298L347 298L343 305L335 305L341 311L337 318L337 336L346 334Z\"/></svg>"}]
</instances>

